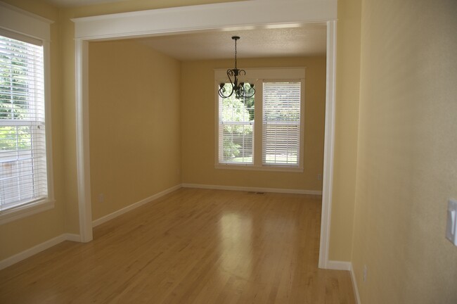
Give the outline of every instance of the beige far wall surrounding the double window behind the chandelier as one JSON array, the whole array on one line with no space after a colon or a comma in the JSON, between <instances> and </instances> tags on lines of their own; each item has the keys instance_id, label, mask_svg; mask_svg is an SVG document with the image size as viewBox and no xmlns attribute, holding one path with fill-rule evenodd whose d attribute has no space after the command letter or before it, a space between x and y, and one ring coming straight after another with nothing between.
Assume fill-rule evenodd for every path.
<instances>
[{"instance_id":1,"label":"beige far wall surrounding the double window behind the chandelier","mask_svg":"<svg viewBox=\"0 0 457 304\"><path fill-rule=\"evenodd\" d=\"M243 68L306 67L304 96L304 172L215 169L214 69L233 60L182 63L181 132L183 183L321 191L326 104L326 58L244 59ZM198 75L198 77L195 77Z\"/></svg>"}]
</instances>

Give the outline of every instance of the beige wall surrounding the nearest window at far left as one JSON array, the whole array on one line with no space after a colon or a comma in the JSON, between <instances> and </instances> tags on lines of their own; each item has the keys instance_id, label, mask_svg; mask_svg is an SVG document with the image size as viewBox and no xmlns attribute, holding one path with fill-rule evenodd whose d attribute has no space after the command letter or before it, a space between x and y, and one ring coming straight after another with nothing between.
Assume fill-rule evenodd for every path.
<instances>
[{"instance_id":1,"label":"beige wall surrounding the nearest window at far left","mask_svg":"<svg viewBox=\"0 0 457 304\"><path fill-rule=\"evenodd\" d=\"M0 260L15 253L24 251L39 243L52 239L64 232L63 212L65 208L65 191L63 182L63 132L62 102L60 99L60 52L58 37L58 10L36 1L4 1L8 4L30 11L55 21L51 25L51 132L53 141L53 176L55 208L44 213L2 224L0 226Z\"/></svg>"}]
</instances>

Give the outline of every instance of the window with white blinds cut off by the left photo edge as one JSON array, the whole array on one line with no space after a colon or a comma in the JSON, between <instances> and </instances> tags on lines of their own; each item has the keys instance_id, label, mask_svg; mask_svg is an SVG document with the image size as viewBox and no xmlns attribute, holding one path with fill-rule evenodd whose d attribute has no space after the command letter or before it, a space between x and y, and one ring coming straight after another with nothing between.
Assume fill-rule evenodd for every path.
<instances>
[{"instance_id":1,"label":"window with white blinds cut off by the left photo edge","mask_svg":"<svg viewBox=\"0 0 457 304\"><path fill-rule=\"evenodd\" d=\"M44 104L41 41L0 35L0 210L48 196Z\"/></svg>"}]
</instances>

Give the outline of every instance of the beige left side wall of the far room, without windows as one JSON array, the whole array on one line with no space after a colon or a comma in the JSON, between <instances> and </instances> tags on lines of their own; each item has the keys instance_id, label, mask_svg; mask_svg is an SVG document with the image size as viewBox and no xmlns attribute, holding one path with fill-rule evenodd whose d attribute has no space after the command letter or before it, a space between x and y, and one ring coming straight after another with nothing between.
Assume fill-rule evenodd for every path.
<instances>
[{"instance_id":1,"label":"beige left side wall of the far room, without windows","mask_svg":"<svg viewBox=\"0 0 457 304\"><path fill-rule=\"evenodd\" d=\"M180 77L179 61L134 40L89 44L94 220L181 183Z\"/></svg>"}]
</instances>

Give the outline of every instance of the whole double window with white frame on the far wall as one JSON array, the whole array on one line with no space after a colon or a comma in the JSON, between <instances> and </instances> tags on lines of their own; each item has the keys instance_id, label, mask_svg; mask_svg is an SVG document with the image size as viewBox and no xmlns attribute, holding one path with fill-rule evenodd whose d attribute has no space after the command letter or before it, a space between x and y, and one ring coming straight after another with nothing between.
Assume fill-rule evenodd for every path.
<instances>
[{"instance_id":1,"label":"whole double window with white frame on the far wall","mask_svg":"<svg viewBox=\"0 0 457 304\"><path fill-rule=\"evenodd\" d=\"M224 72L215 72L217 83L225 82ZM255 96L217 95L217 167L302 170L304 68L252 69L246 75L256 79Z\"/></svg>"}]
</instances>

